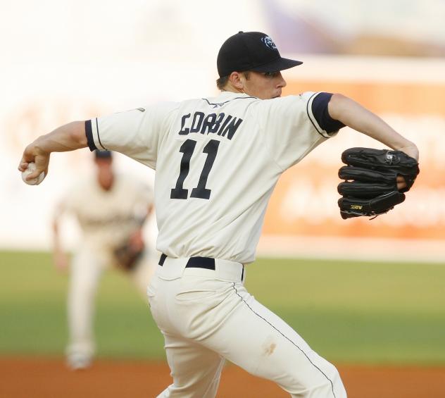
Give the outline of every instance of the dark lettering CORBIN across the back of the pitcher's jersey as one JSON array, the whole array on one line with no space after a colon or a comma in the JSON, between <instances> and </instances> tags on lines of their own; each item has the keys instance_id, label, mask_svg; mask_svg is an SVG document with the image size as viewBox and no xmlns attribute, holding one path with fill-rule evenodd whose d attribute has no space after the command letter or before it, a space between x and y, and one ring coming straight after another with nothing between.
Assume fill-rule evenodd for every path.
<instances>
[{"instance_id":1,"label":"dark lettering CORBIN across the back of the pitcher's jersey","mask_svg":"<svg viewBox=\"0 0 445 398\"><path fill-rule=\"evenodd\" d=\"M203 112L195 112L182 116L181 130L179 135L188 135L194 132L199 134L216 134L221 137L232 139L239 126L243 123L240 118L234 118L225 113L210 113L206 115Z\"/></svg>"}]
</instances>

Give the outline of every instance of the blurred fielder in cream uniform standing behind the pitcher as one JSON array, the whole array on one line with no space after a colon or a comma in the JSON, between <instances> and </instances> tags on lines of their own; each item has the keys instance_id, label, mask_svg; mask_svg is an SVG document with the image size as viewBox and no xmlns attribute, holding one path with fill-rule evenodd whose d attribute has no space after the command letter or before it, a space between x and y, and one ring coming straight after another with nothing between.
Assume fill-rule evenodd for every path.
<instances>
[{"instance_id":1,"label":"blurred fielder in cream uniform standing behind the pitcher","mask_svg":"<svg viewBox=\"0 0 445 398\"><path fill-rule=\"evenodd\" d=\"M62 216L75 216L82 230L82 242L70 263L68 292L70 342L66 355L73 369L86 368L94 356L94 297L103 271L123 270L146 294L154 270L152 252L142 236L144 221L153 209L151 188L115 173L110 151L95 151L94 163L95 173L70 189L54 216L57 268L68 266L60 239Z\"/></svg>"}]
</instances>

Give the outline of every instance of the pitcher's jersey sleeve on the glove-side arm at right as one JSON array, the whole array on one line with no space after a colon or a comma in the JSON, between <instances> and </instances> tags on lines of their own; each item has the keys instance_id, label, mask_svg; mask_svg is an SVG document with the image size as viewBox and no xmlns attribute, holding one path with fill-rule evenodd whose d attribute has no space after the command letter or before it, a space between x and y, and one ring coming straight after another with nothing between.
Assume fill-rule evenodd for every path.
<instances>
[{"instance_id":1,"label":"pitcher's jersey sleeve on the glove-side arm at right","mask_svg":"<svg viewBox=\"0 0 445 398\"><path fill-rule=\"evenodd\" d=\"M260 101L258 123L270 156L282 170L294 166L310 151L337 133L323 130L313 113L313 101L322 94L305 92Z\"/></svg>"}]
</instances>

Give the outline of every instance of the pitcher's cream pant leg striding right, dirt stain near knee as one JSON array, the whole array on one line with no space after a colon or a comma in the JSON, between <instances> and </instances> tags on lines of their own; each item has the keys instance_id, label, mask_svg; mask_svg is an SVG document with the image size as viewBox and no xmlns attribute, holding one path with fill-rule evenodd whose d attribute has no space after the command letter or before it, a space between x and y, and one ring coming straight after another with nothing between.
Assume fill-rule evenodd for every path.
<instances>
[{"instance_id":1,"label":"pitcher's cream pant leg striding right, dirt stain near knee","mask_svg":"<svg viewBox=\"0 0 445 398\"><path fill-rule=\"evenodd\" d=\"M167 330L196 342L253 375L275 381L292 397L346 397L337 369L240 282L204 275L155 277L149 297L153 318L164 334ZM173 374L179 371L176 363L171 366ZM196 373L201 369L197 366Z\"/></svg>"}]
</instances>

